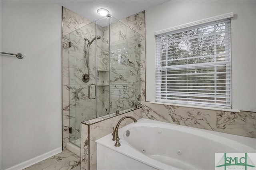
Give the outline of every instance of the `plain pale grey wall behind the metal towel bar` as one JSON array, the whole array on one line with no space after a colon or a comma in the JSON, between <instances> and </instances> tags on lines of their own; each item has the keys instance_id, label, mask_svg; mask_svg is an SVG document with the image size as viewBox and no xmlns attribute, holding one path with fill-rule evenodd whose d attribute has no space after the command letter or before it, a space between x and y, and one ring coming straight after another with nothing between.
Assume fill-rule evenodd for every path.
<instances>
[{"instance_id":1,"label":"plain pale grey wall behind the metal towel bar","mask_svg":"<svg viewBox=\"0 0 256 170\"><path fill-rule=\"evenodd\" d=\"M50 1L0 1L1 170L62 147L61 17Z\"/></svg>"}]
</instances>

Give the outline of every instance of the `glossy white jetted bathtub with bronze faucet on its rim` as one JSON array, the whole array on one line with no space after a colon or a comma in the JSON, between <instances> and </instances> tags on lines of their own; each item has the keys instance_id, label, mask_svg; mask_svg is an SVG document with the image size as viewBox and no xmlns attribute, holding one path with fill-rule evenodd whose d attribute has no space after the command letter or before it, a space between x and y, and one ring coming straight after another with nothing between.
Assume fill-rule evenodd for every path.
<instances>
[{"instance_id":1,"label":"glossy white jetted bathtub with bronze faucet on its rim","mask_svg":"<svg viewBox=\"0 0 256 170\"><path fill-rule=\"evenodd\" d=\"M129 130L130 135L126 136ZM139 119L97 142L98 170L214 170L215 153L256 152L256 138Z\"/></svg>"}]
</instances>

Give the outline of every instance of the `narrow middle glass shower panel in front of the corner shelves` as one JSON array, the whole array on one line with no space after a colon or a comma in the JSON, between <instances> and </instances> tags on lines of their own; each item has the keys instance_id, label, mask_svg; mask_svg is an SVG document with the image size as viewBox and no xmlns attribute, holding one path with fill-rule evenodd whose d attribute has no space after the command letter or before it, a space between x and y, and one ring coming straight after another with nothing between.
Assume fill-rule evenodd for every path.
<instances>
[{"instance_id":1,"label":"narrow middle glass shower panel in front of the corner shelves","mask_svg":"<svg viewBox=\"0 0 256 170\"><path fill-rule=\"evenodd\" d=\"M100 36L96 48L96 74L97 97L96 116L109 115L109 24L110 17L104 17L96 21L96 34Z\"/></svg>"}]
</instances>

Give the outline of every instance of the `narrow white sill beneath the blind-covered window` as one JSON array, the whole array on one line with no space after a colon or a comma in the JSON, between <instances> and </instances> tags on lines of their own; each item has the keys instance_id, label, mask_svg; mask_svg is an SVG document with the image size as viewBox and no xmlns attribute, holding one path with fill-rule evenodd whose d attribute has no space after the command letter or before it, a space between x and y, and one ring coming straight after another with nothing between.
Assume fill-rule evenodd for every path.
<instances>
[{"instance_id":1,"label":"narrow white sill beneath the blind-covered window","mask_svg":"<svg viewBox=\"0 0 256 170\"><path fill-rule=\"evenodd\" d=\"M191 107L196 109L208 109L208 110L215 110L215 111L227 111L227 112L236 112L240 113L238 109L225 109L225 108L217 108L217 107L204 107L204 106L194 106L194 105L182 105L182 104L174 104L174 103L162 103L162 102L155 102L151 101L152 104L158 105L170 105L170 106L180 106L180 107Z\"/></svg>"}]
</instances>

